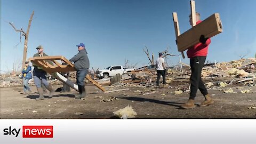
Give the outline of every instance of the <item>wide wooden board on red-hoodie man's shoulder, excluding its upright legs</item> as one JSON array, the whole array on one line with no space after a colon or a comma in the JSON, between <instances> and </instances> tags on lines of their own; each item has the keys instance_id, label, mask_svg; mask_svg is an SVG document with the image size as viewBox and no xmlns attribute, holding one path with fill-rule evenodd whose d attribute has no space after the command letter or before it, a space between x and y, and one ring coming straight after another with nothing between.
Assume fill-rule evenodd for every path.
<instances>
[{"instance_id":1,"label":"wide wooden board on red-hoodie man's shoulder, excluding its upright legs","mask_svg":"<svg viewBox=\"0 0 256 144\"><path fill-rule=\"evenodd\" d=\"M175 24L175 23L174 23ZM209 18L205 19L195 27L187 30L177 38L178 51L182 52L189 47L199 43L199 37L213 37L222 32L222 24L219 13L212 14Z\"/></svg>"}]
</instances>

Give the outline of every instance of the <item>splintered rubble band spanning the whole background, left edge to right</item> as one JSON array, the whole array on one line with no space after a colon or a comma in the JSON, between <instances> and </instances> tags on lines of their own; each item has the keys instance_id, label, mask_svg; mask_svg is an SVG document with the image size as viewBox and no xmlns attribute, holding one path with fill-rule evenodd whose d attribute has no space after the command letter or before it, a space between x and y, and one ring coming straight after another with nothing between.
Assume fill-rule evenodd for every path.
<instances>
[{"instance_id":1,"label":"splintered rubble band spanning the whole background, left edge to right","mask_svg":"<svg viewBox=\"0 0 256 144\"><path fill-rule=\"evenodd\" d=\"M205 65L202 70L202 78L206 82L207 88L212 89L215 86L225 87L229 84L241 83L243 84L255 84L256 80L256 69L255 69L255 58L233 60L230 62L217 62ZM182 67L180 67L182 65ZM167 69L166 71L166 85L168 87L170 84L179 84L185 82L189 85L189 77L191 71L189 65L185 63L180 63L179 67L174 67ZM0 76L0 87L12 87L22 85L22 79L20 75L2 74ZM156 69L148 69L146 66L139 68L137 70L131 71L130 73L123 74L121 79L115 83L111 83L111 78L99 79L97 82L103 86L112 87L154 87L156 83ZM71 71L69 73L69 79L71 81L76 81L76 71ZM52 85L62 84L57 79L49 78ZM160 79L162 81L162 77ZM211 82L211 83L207 83ZM34 85L33 79L29 81L30 85ZM182 90L184 89L184 90ZM189 90L189 87L185 88L179 87L177 91L182 90L183 92Z\"/></svg>"}]
</instances>

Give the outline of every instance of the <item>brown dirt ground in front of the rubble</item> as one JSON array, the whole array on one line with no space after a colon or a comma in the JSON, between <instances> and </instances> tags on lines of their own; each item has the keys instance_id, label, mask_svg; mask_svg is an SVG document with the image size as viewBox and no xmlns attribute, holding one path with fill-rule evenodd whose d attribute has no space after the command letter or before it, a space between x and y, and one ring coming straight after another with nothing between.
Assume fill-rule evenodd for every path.
<instances>
[{"instance_id":1,"label":"brown dirt ground in front of the rubble","mask_svg":"<svg viewBox=\"0 0 256 144\"><path fill-rule=\"evenodd\" d=\"M60 87L54 86L54 89ZM236 90L235 85L232 87ZM211 106L194 109L180 109L180 105L188 100L189 94L183 92L175 95L174 88L155 89L149 87L122 87L127 91L102 93L97 87L88 85L85 100L75 100L76 91L60 93L54 92L52 99L36 101L36 87L31 86L33 94L22 94L22 87L1 88L1 118L117 118L113 112L132 106L137 112L136 118L256 118L256 86L244 86L251 89L250 93L224 93L220 90L209 90L215 103ZM115 88L117 89L117 87ZM121 89L121 88L119 88ZM142 95L141 92L155 89L156 93ZM139 91L141 92L139 92ZM135 92L136 91L136 92ZM102 98L95 98L95 97ZM100 102L102 99L116 97L118 100ZM204 100L198 92L196 103ZM34 111L34 113L33 113ZM76 115L75 113L83 113Z\"/></svg>"}]
</instances>

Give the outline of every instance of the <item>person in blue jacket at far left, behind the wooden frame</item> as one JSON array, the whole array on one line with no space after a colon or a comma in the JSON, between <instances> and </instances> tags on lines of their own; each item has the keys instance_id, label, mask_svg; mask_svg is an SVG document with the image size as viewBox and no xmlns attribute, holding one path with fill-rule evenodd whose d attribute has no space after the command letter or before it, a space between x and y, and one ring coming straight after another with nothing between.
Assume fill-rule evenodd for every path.
<instances>
[{"instance_id":1,"label":"person in blue jacket at far left, behind the wooden frame","mask_svg":"<svg viewBox=\"0 0 256 144\"><path fill-rule=\"evenodd\" d=\"M25 67L22 69L21 73L22 73L23 84L24 84L24 88L23 88L24 93L30 94L31 89L28 85L28 81L29 79L32 78L32 75L31 75L31 67L29 66L29 61L25 61Z\"/></svg>"}]
</instances>

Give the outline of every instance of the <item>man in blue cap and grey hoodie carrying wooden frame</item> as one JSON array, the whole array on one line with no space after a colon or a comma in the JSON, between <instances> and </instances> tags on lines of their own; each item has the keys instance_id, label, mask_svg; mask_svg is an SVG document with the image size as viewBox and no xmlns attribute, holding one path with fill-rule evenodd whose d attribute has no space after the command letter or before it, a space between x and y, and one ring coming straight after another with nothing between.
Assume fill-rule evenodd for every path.
<instances>
[{"instance_id":1,"label":"man in blue cap and grey hoodie carrying wooden frame","mask_svg":"<svg viewBox=\"0 0 256 144\"><path fill-rule=\"evenodd\" d=\"M90 61L87 56L87 51L83 43L79 43L77 46L78 53L71 58L69 61L74 62L74 67L76 69L76 83L78 85L79 95L76 95L76 99L81 99L86 96L84 78L88 74Z\"/></svg>"}]
</instances>

